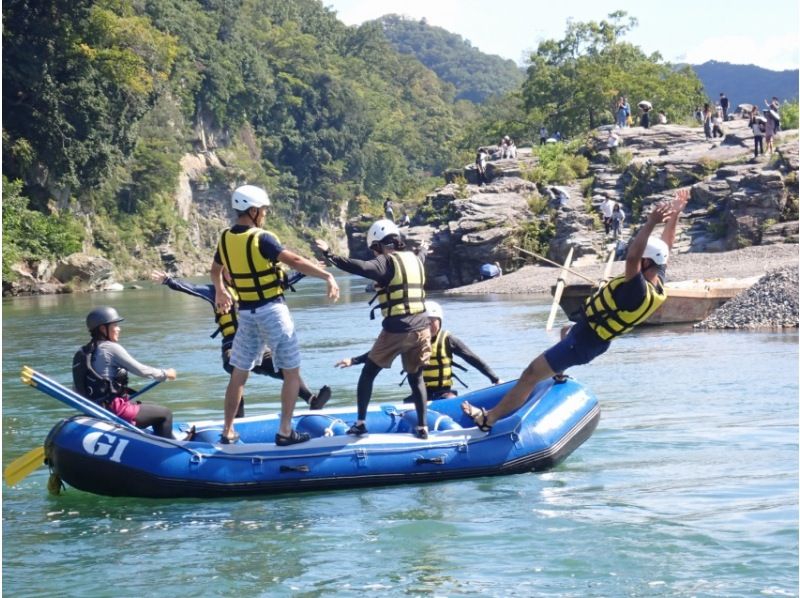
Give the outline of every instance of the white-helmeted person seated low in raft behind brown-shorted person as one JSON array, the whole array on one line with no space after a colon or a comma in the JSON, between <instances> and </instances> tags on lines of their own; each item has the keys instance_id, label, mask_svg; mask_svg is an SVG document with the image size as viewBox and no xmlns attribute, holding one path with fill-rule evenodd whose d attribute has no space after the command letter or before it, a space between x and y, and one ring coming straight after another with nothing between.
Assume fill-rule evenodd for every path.
<instances>
[{"instance_id":1,"label":"white-helmeted person seated low in raft behind brown-shorted person","mask_svg":"<svg viewBox=\"0 0 800 598\"><path fill-rule=\"evenodd\" d=\"M456 338L446 330L442 330L443 312L441 306L435 301L425 302L428 322L431 330L431 358L422 371L425 380L425 388L428 391L428 400L447 399L458 395L458 391L453 389L453 356L461 357L464 361L478 370L481 374L489 378L492 384L499 384L500 379L492 371L492 368L473 353L466 344ZM369 353L364 353L358 357L349 357L337 362L336 367L346 368L351 365L361 365L366 363ZM412 398L406 399L411 402Z\"/></svg>"}]
</instances>

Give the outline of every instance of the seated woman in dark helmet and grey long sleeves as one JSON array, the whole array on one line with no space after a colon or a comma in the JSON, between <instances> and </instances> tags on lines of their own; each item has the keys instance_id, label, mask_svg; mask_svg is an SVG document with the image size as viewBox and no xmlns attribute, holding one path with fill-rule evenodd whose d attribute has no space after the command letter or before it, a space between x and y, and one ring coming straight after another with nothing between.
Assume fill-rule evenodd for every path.
<instances>
[{"instance_id":1,"label":"seated woman in dark helmet and grey long sleeves","mask_svg":"<svg viewBox=\"0 0 800 598\"><path fill-rule=\"evenodd\" d=\"M174 438L172 411L130 400L133 391L127 385L128 372L154 380L174 380L177 374L172 368L152 368L130 356L119 344L123 319L113 307L96 307L86 316L92 340L72 360L75 390L137 428L153 426L156 436Z\"/></svg>"}]
</instances>

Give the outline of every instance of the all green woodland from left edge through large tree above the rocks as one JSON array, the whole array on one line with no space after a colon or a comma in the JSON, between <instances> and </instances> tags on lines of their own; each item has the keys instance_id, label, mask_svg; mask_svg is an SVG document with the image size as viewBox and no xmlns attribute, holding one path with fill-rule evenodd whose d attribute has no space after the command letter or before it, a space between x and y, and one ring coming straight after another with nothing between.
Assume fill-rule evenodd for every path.
<instances>
[{"instance_id":1,"label":"all green woodland from left edge through large tree above the rocks","mask_svg":"<svg viewBox=\"0 0 800 598\"><path fill-rule=\"evenodd\" d=\"M529 141L544 123L578 137L613 121L620 94L673 120L704 99L690 69L622 40L635 25L625 13L571 22L510 85L515 69L477 77L501 63L459 36L397 17L348 27L320 0L7 0L2 10L4 283L22 262L42 281L45 262L78 251L108 258L122 279L192 261L184 272L205 271L237 184L264 186L270 227L297 244L380 213L386 196L421 201L446 168L504 134ZM465 88L398 52L392 31L429 47L441 77L510 91L457 100Z\"/></svg>"}]
</instances>

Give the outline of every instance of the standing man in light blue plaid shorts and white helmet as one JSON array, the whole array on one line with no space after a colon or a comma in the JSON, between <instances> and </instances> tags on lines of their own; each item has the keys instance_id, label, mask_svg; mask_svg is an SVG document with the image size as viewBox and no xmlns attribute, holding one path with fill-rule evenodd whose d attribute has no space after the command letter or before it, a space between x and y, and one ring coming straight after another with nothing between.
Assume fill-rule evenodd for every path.
<instances>
[{"instance_id":1,"label":"standing man in light blue plaid shorts and white helmet","mask_svg":"<svg viewBox=\"0 0 800 598\"><path fill-rule=\"evenodd\" d=\"M220 313L233 307L233 298L225 288L223 266L239 295L239 326L233 339L230 363L231 379L225 391L225 424L222 443L236 442L233 419L244 394L250 370L259 363L264 349L272 351L275 367L283 372L281 387L281 421L275 444L287 446L305 442L310 436L292 429L292 414L300 390L300 350L294 322L283 298L283 287L277 263L308 276L321 278L328 284L328 298L339 298L339 286L333 274L310 260L284 249L278 238L261 228L267 217L269 197L260 187L244 185L231 196L236 210L236 224L224 231L211 264L211 282L216 289L215 305Z\"/></svg>"}]
</instances>

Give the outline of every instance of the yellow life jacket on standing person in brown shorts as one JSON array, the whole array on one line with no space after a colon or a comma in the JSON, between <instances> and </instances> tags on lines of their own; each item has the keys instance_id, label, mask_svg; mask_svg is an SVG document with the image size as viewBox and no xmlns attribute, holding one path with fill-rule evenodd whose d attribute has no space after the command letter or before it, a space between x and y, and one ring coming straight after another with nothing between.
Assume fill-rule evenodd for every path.
<instances>
[{"instance_id":1,"label":"yellow life jacket on standing person in brown shorts","mask_svg":"<svg viewBox=\"0 0 800 598\"><path fill-rule=\"evenodd\" d=\"M422 262L410 251L392 253L389 258L394 264L394 276L385 288L378 291L377 307L381 308L384 318L421 314L425 311L425 268ZM374 318L373 313L370 313L370 318Z\"/></svg>"}]
</instances>

